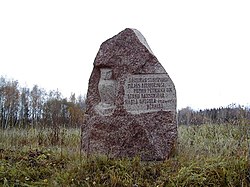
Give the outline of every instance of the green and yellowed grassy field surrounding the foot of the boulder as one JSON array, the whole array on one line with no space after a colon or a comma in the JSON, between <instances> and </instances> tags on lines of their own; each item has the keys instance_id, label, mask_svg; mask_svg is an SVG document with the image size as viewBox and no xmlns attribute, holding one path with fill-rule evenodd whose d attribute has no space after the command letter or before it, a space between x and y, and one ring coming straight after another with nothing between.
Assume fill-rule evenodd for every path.
<instances>
[{"instance_id":1,"label":"green and yellowed grassy field surrounding the foot of the boulder","mask_svg":"<svg viewBox=\"0 0 250 187\"><path fill-rule=\"evenodd\" d=\"M0 186L250 186L250 125L180 126L164 162L86 158L80 130L0 130Z\"/></svg>"}]
</instances>

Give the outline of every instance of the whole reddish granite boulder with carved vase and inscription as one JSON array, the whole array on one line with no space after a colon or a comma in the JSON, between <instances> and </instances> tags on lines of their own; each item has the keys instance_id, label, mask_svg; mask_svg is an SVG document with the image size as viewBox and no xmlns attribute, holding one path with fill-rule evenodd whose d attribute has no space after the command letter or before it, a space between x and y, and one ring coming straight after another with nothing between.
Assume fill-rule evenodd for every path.
<instances>
[{"instance_id":1,"label":"whole reddish granite boulder with carved vase and inscription","mask_svg":"<svg viewBox=\"0 0 250 187\"><path fill-rule=\"evenodd\" d=\"M172 80L135 29L102 43L87 93L86 154L163 160L177 138Z\"/></svg>"}]
</instances>

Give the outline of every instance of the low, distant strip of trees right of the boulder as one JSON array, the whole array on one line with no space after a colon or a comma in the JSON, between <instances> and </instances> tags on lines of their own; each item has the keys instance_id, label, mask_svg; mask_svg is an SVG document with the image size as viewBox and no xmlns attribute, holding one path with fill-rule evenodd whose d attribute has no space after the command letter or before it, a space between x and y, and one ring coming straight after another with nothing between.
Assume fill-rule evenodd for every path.
<instances>
[{"instance_id":1,"label":"low, distant strip of trees right of the boulder","mask_svg":"<svg viewBox=\"0 0 250 187\"><path fill-rule=\"evenodd\" d=\"M201 124L249 124L250 108L236 104L228 107L205 109L195 111L190 107L178 111L179 125L201 125Z\"/></svg>"}]
</instances>

